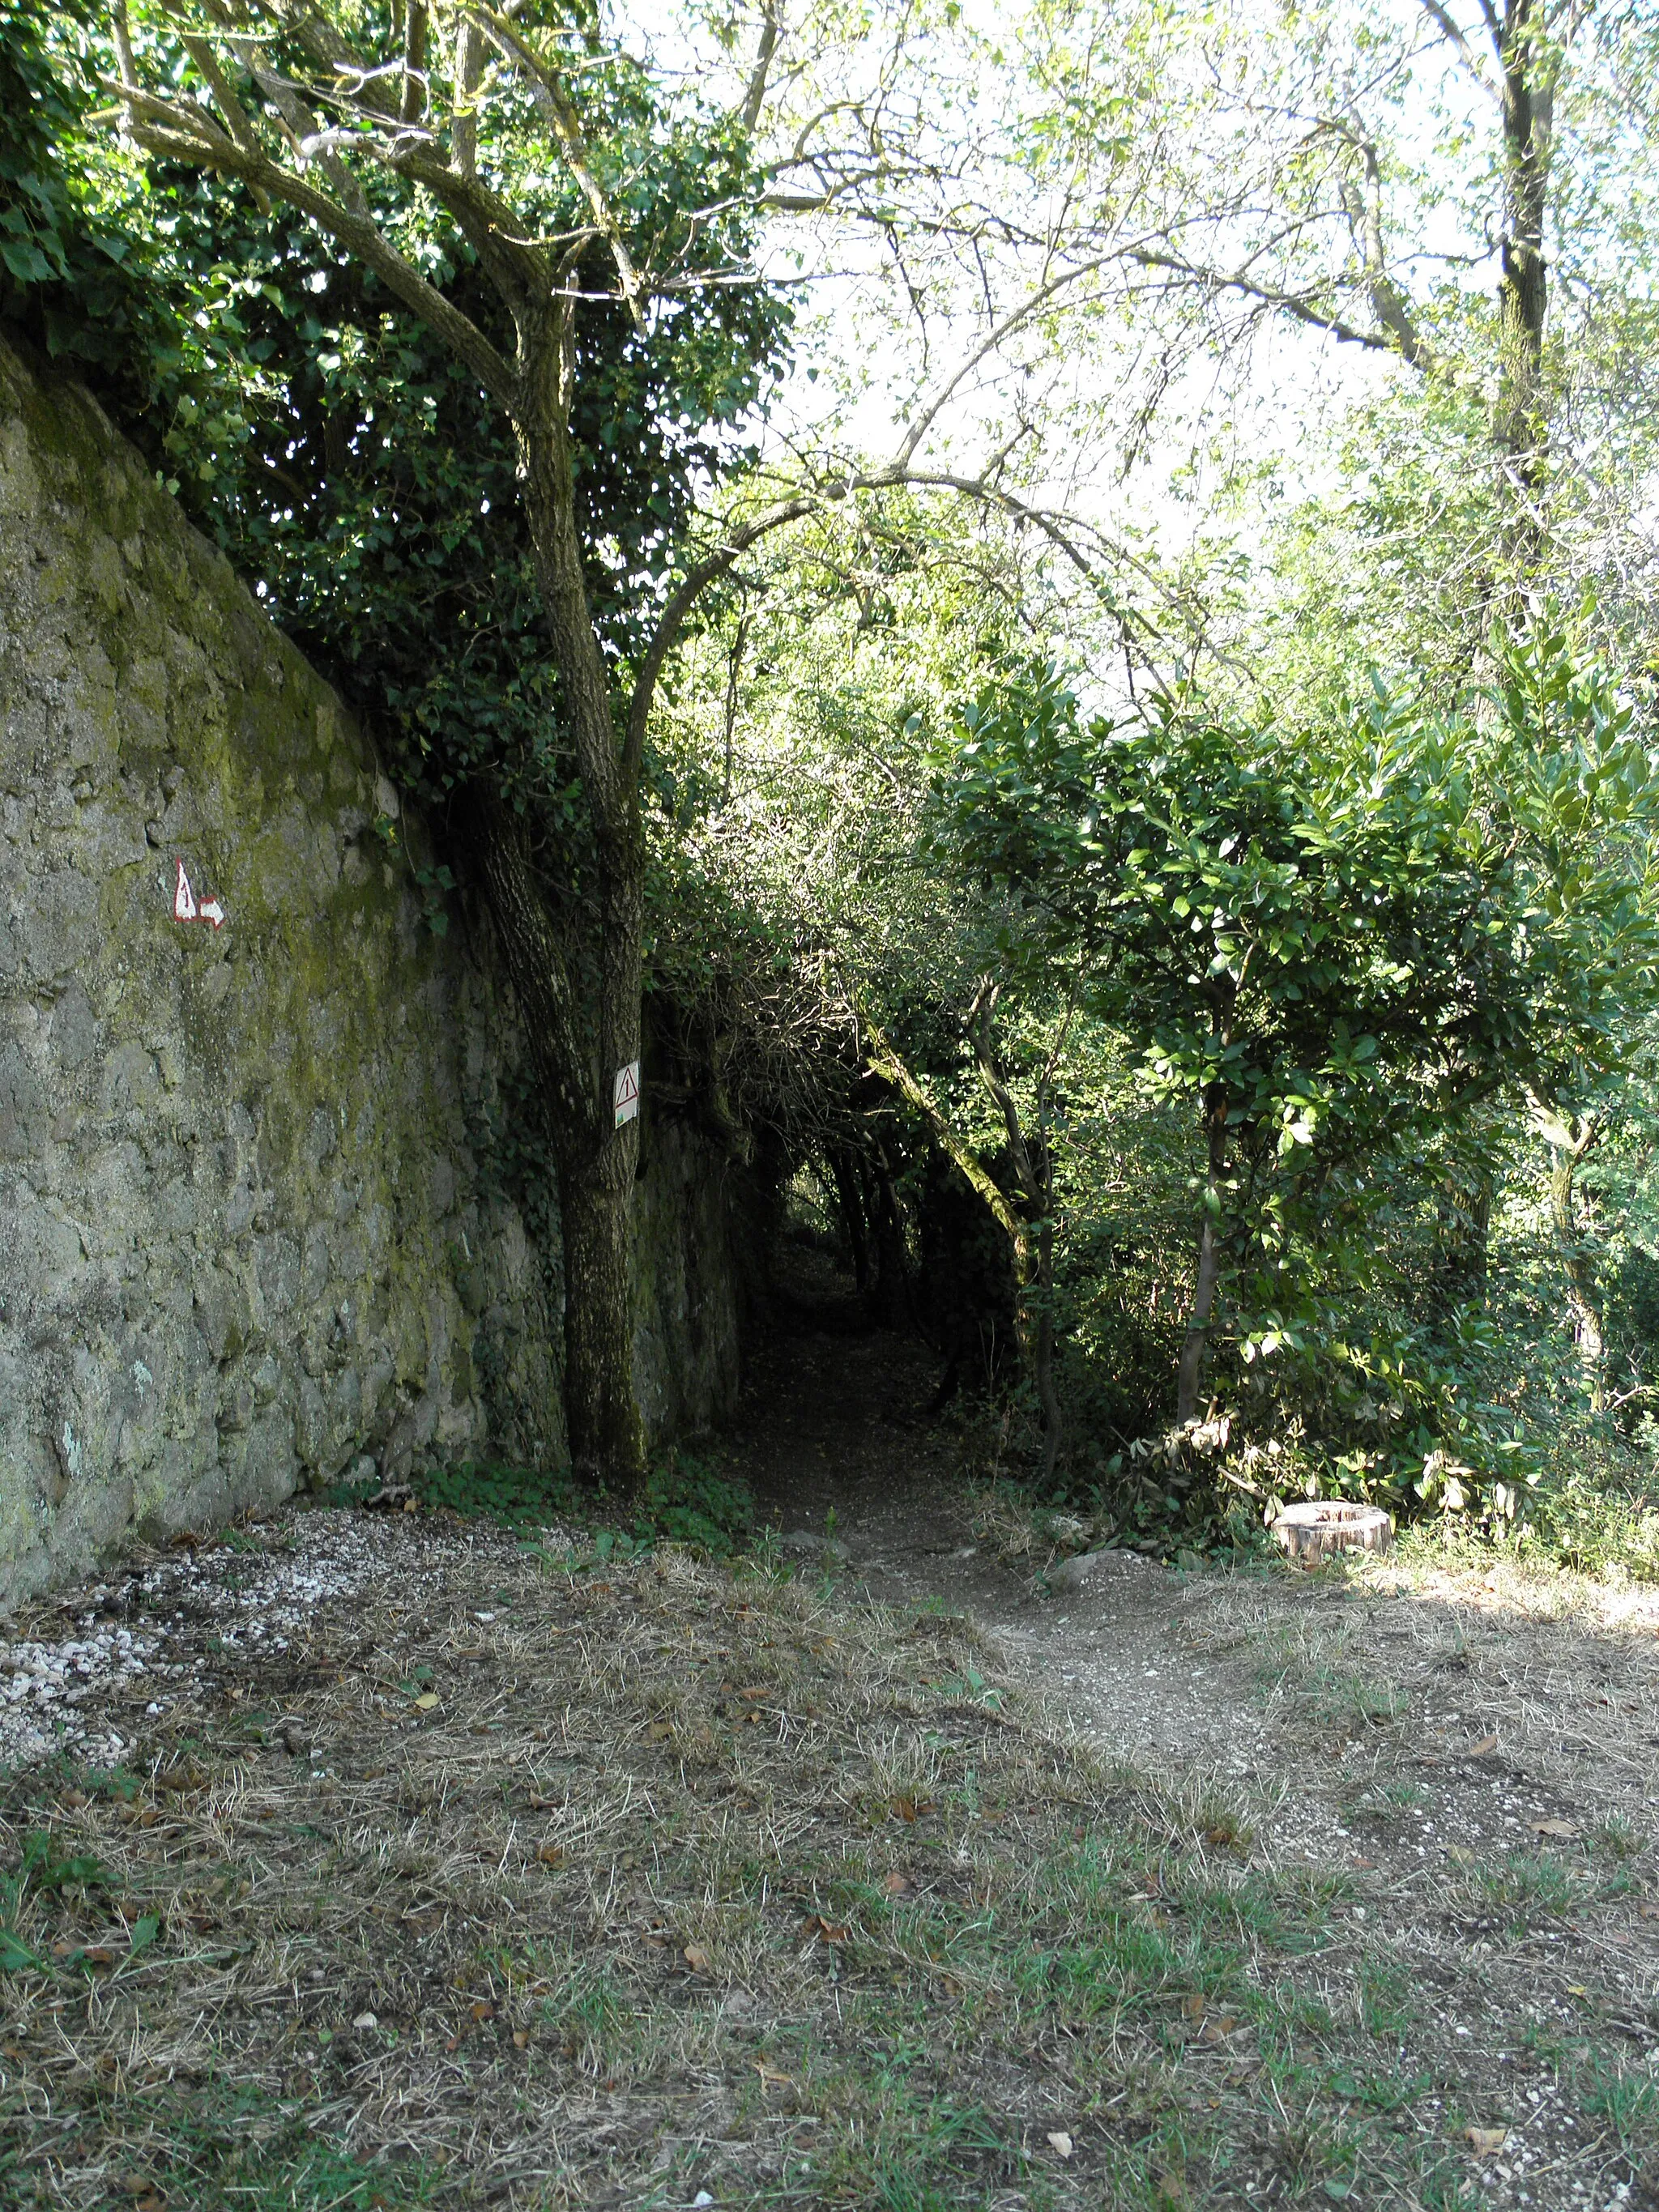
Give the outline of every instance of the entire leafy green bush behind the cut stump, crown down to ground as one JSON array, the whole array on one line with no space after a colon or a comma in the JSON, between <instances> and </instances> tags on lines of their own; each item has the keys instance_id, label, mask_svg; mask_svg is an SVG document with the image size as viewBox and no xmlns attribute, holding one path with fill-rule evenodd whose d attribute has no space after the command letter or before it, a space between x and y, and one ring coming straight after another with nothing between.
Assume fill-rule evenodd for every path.
<instances>
[{"instance_id":1,"label":"entire leafy green bush behind the cut stump, crown down to ground","mask_svg":"<svg viewBox=\"0 0 1659 2212\"><path fill-rule=\"evenodd\" d=\"M1513 1511L1537 1475L1495 1318L1433 1287L1425 1201L1455 1188L1486 1102L1577 1097L1617 1071L1655 989L1659 783L1632 701L1568 624L1498 646L1484 692L1447 708L1374 681L1312 728L1170 695L1086 721L1033 668L936 748L929 852L982 902L1000 973L1031 1004L1073 1002L1079 1075L1097 1024L1146 1110L1197 1106L1208 1144L1194 1208L1175 1137L1166 1203L1188 1210L1188 1252L1214 1221L1232 1409L1186 1455L1117 1460L1133 1528L1148 1511L1208 1526L1217 1480L1265 1504ZM1091 1203L1110 1139L1079 1079L1064 1088L1073 1400L1099 1367L1121 1402L1126 1374L1172 1360L1183 1318L1148 1329L1124 1298L1157 1124L1126 1250L1126 1208Z\"/></svg>"}]
</instances>

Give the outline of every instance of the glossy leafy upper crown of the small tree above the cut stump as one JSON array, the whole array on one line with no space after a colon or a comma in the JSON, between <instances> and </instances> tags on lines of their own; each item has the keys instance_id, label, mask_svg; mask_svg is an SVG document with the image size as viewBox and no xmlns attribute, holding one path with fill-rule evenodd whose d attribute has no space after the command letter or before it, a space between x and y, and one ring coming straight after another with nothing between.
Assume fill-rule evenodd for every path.
<instances>
[{"instance_id":1,"label":"glossy leafy upper crown of the small tree above the cut stump","mask_svg":"<svg viewBox=\"0 0 1659 2212\"><path fill-rule=\"evenodd\" d=\"M1033 670L942 748L938 849L1000 902L1011 967L1082 962L1152 1084L1219 1088L1261 1157L1553 1088L1610 1064L1652 967L1655 757L1566 626L1500 644L1495 699L1378 679L1329 728L1168 695L1084 723Z\"/></svg>"}]
</instances>

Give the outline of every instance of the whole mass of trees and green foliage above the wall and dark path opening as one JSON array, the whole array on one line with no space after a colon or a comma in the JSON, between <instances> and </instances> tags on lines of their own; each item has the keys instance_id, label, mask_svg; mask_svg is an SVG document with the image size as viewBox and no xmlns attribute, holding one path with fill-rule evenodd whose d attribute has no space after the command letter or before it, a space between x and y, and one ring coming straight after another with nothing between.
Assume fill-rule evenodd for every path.
<instances>
[{"instance_id":1,"label":"whole mass of trees and green foliage above the wall and dark path opening","mask_svg":"<svg viewBox=\"0 0 1659 2212\"><path fill-rule=\"evenodd\" d=\"M1641 1451L1652 66L1555 0L4 0L0 314L489 916L584 1469L641 1053L1148 1542Z\"/></svg>"}]
</instances>

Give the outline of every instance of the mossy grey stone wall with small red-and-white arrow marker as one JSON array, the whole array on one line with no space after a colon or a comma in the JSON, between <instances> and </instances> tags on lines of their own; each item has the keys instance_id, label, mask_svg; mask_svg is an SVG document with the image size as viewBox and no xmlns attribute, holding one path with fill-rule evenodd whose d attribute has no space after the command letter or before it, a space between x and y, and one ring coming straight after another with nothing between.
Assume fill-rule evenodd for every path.
<instances>
[{"instance_id":1,"label":"mossy grey stone wall with small red-and-white arrow marker","mask_svg":"<svg viewBox=\"0 0 1659 2212\"><path fill-rule=\"evenodd\" d=\"M0 1604L365 1453L557 1464L557 1232L491 1172L489 936L431 933L341 701L2 345L0 723ZM179 863L219 927L175 918ZM730 1402L739 1283L708 1155L644 1135L661 1438Z\"/></svg>"}]
</instances>

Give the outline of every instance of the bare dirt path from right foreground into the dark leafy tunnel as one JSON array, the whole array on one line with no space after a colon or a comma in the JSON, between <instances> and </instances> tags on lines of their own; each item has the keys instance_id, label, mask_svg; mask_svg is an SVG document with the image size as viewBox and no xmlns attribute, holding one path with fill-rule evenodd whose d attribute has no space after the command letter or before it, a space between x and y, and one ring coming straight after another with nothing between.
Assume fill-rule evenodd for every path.
<instances>
[{"instance_id":1,"label":"bare dirt path from right foreground into the dark leafy tunnel","mask_svg":"<svg viewBox=\"0 0 1659 2212\"><path fill-rule=\"evenodd\" d=\"M927 1352L849 1321L796 1310L728 1449L783 1548L812 1562L830 1524L847 1586L969 1613L1015 1681L1214 1836L1349 1882L1491 2117L1482 2205L1659 2208L1659 2159L1617 2157L1632 2110L1659 2143L1659 1593L1128 1555L1051 1590L1042 1553L975 1528ZM1626 2084L1588 2115L1562 2101L1568 2048Z\"/></svg>"}]
</instances>

